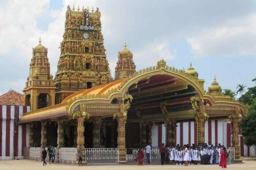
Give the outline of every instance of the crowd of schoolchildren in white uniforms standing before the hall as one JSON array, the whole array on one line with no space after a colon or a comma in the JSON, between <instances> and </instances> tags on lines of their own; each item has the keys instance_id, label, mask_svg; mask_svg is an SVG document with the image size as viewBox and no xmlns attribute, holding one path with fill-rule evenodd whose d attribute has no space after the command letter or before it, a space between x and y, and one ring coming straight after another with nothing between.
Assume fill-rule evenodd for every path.
<instances>
[{"instance_id":1,"label":"crowd of schoolchildren in white uniforms standing before the hall","mask_svg":"<svg viewBox=\"0 0 256 170\"><path fill-rule=\"evenodd\" d=\"M223 145L184 145L183 147L170 146L167 148L167 155L170 158L170 165L201 165L218 164Z\"/></svg>"}]
</instances>

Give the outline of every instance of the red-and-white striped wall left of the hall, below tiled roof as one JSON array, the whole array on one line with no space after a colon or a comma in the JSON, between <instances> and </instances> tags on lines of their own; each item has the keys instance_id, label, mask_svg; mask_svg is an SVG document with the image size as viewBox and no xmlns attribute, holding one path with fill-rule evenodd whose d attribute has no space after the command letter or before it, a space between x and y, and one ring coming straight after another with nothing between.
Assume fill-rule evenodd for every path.
<instances>
[{"instance_id":1,"label":"red-and-white striped wall left of the hall, below tiled roof","mask_svg":"<svg viewBox=\"0 0 256 170\"><path fill-rule=\"evenodd\" d=\"M0 160L23 158L23 147L29 144L28 126L16 121L28 111L30 106L0 105Z\"/></svg>"}]
</instances>

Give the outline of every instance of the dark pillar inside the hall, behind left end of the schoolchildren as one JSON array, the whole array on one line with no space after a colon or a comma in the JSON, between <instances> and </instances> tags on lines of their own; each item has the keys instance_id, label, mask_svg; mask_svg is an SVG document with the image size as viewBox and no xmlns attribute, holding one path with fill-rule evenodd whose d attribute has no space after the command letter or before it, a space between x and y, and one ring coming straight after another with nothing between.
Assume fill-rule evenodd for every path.
<instances>
[{"instance_id":1,"label":"dark pillar inside the hall, behind left end of the schoolchildren","mask_svg":"<svg viewBox=\"0 0 256 170\"><path fill-rule=\"evenodd\" d=\"M175 126L176 120L173 118L165 117L165 141L166 145L174 145L175 143Z\"/></svg>"}]
</instances>

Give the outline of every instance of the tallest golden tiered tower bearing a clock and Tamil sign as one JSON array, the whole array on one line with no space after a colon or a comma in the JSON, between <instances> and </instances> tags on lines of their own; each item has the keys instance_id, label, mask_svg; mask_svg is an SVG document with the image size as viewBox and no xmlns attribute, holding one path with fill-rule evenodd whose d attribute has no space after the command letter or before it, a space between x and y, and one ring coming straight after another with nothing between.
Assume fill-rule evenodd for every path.
<instances>
[{"instance_id":1,"label":"tallest golden tiered tower bearing a clock and Tamil sign","mask_svg":"<svg viewBox=\"0 0 256 170\"><path fill-rule=\"evenodd\" d=\"M61 54L54 78L56 104L72 93L110 83L109 63L106 59L101 13L97 8L72 10L67 7L65 32L60 43Z\"/></svg>"}]
</instances>

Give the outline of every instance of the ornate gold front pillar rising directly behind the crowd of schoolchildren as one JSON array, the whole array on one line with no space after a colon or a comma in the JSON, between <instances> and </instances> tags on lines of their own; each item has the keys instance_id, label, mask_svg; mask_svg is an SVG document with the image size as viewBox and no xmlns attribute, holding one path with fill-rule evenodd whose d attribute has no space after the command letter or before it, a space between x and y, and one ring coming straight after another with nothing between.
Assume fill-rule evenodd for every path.
<instances>
[{"instance_id":1,"label":"ornate gold front pillar rising directly behind the crowd of schoolchildren","mask_svg":"<svg viewBox=\"0 0 256 170\"><path fill-rule=\"evenodd\" d=\"M200 110L196 111L195 122L197 126L197 142L204 143L204 123L208 120L208 115L205 113L205 106L201 106Z\"/></svg>"}]
</instances>

